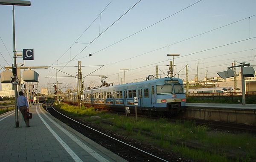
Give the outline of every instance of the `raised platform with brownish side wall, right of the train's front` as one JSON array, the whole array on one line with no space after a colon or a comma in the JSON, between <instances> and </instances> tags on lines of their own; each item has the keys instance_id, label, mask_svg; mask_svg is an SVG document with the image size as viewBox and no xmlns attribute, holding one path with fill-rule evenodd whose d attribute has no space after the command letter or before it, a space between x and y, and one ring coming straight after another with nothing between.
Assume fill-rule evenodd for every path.
<instances>
[{"instance_id":1,"label":"raised platform with brownish side wall, right of the train's front","mask_svg":"<svg viewBox=\"0 0 256 162\"><path fill-rule=\"evenodd\" d=\"M183 116L194 119L256 125L256 105L186 103L186 111Z\"/></svg>"}]
</instances>

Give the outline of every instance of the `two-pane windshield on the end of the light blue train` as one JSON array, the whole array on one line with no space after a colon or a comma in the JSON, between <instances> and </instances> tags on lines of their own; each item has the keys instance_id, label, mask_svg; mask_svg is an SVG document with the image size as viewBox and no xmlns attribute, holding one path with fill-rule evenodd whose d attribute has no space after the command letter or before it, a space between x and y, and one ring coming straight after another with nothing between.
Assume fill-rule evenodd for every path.
<instances>
[{"instance_id":1,"label":"two-pane windshield on the end of the light blue train","mask_svg":"<svg viewBox=\"0 0 256 162\"><path fill-rule=\"evenodd\" d=\"M175 93L184 93L184 88L180 84L164 84L164 85L157 85L157 95L164 95L164 94L172 94L173 87L174 86L174 92Z\"/></svg>"}]
</instances>

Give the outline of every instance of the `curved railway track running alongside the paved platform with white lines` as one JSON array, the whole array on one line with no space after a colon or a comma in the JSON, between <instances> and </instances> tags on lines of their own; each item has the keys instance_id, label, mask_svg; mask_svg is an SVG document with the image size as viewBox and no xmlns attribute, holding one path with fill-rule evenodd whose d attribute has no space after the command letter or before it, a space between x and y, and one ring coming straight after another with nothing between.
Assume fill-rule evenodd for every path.
<instances>
[{"instance_id":1,"label":"curved railway track running alongside the paved platform with white lines","mask_svg":"<svg viewBox=\"0 0 256 162\"><path fill-rule=\"evenodd\" d=\"M85 121L77 121L71 119L64 114L59 113L52 107L51 104L46 104L44 107L52 116L68 124L73 129L79 131L84 136L92 139L103 147L111 150L113 153L122 158L133 162L189 162L172 153L165 153L149 145L142 145L140 142L133 139L128 139L120 134L109 132L106 130L97 130L96 127L86 123Z\"/></svg>"}]
</instances>

